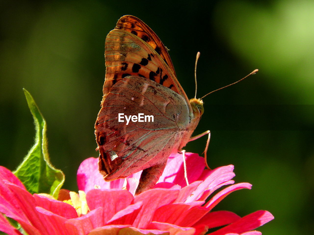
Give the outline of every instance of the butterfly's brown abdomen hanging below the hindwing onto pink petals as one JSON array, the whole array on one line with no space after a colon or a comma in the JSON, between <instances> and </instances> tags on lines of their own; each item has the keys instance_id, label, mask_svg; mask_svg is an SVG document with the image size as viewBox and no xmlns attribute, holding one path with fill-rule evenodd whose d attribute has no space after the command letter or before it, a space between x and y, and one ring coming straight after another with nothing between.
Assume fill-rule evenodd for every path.
<instances>
[{"instance_id":1,"label":"butterfly's brown abdomen hanging below the hindwing onto pink petals","mask_svg":"<svg viewBox=\"0 0 314 235\"><path fill-rule=\"evenodd\" d=\"M167 159L160 164L151 166L142 171L141 177L139 179L138 187L136 188L135 195L142 193L143 191L149 190L157 183L159 177L162 175Z\"/></svg>"}]
</instances>

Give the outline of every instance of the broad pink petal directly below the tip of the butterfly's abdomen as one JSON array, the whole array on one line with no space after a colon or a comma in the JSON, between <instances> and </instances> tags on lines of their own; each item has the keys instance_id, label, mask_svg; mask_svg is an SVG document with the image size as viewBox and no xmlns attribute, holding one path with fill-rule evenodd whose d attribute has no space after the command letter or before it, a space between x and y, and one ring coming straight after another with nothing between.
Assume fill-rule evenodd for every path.
<instances>
[{"instance_id":1,"label":"broad pink petal directly below the tip of the butterfly's abdomen","mask_svg":"<svg viewBox=\"0 0 314 235\"><path fill-rule=\"evenodd\" d=\"M133 226L138 228L146 228L150 223L155 210L163 205L170 204L176 200L179 190L171 189L150 189L135 196L134 203L143 201L143 206L136 217Z\"/></svg>"}]
</instances>

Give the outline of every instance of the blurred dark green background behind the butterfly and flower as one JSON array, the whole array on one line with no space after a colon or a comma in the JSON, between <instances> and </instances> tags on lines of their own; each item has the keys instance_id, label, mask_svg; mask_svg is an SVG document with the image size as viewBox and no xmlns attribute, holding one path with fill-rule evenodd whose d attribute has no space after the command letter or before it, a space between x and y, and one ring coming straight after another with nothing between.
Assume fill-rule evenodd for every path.
<instances>
[{"instance_id":1,"label":"blurred dark green background behind the butterfly and flower","mask_svg":"<svg viewBox=\"0 0 314 235\"><path fill-rule=\"evenodd\" d=\"M215 210L263 209L263 234L312 234L313 1L1 1L0 165L14 170L35 130L22 88L48 124L51 162L77 191L82 160L97 157L94 124L105 77L106 34L123 15L142 19L170 49L178 80L204 99L195 134L211 130L209 165L235 165L232 193ZM202 154L206 137L186 146Z\"/></svg>"}]
</instances>

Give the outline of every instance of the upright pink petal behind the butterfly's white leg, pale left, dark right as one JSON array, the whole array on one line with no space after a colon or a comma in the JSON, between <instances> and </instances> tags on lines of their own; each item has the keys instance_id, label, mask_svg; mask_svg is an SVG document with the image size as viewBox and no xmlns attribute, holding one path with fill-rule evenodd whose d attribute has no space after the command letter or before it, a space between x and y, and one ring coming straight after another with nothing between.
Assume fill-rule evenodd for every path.
<instances>
[{"instance_id":1,"label":"upright pink petal behind the butterfly's white leg, pale left, dark right","mask_svg":"<svg viewBox=\"0 0 314 235\"><path fill-rule=\"evenodd\" d=\"M198 154L185 153L187 164L187 179L189 182L194 182L202 174L205 168L204 158ZM187 186L184 179L184 167L182 154L171 154L168 158L167 165L158 182L170 182L181 187Z\"/></svg>"}]
</instances>

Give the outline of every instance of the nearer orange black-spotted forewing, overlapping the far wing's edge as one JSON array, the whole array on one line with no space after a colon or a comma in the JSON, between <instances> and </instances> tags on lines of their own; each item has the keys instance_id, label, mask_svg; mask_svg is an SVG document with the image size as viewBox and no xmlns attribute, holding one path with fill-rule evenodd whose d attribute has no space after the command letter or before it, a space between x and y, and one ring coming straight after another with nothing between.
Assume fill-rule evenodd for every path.
<instances>
[{"instance_id":1,"label":"nearer orange black-spotted forewing, overlapping the far wing's edge","mask_svg":"<svg viewBox=\"0 0 314 235\"><path fill-rule=\"evenodd\" d=\"M176 82L174 74L160 55L136 35L124 30L112 30L106 38L105 58L106 79L103 100L111 86L121 78L130 75L156 81L188 100L181 85Z\"/></svg>"}]
</instances>

